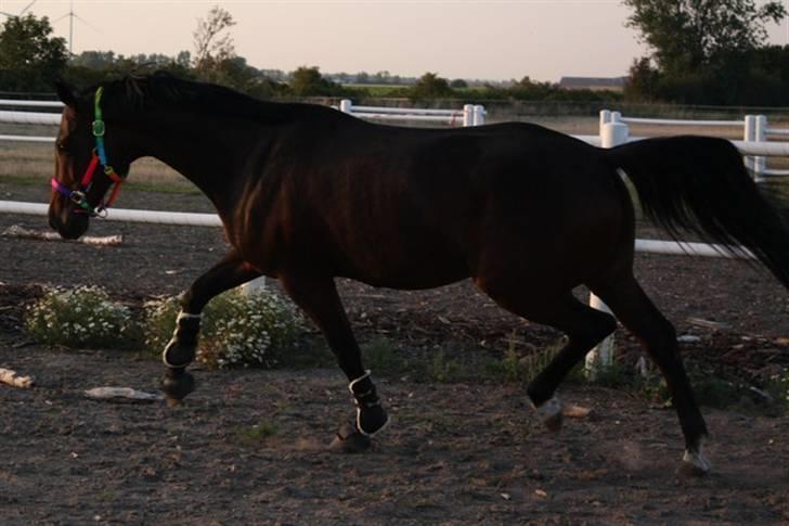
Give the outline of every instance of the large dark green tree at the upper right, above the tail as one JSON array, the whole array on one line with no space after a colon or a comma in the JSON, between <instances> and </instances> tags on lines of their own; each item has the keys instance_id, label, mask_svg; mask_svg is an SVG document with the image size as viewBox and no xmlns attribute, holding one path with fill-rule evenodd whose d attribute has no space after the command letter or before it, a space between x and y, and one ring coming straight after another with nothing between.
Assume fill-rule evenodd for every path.
<instances>
[{"instance_id":1,"label":"large dark green tree at the upper right, above the tail","mask_svg":"<svg viewBox=\"0 0 789 526\"><path fill-rule=\"evenodd\" d=\"M633 10L628 25L651 48L651 61L641 59L631 68L630 99L759 103L758 90L749 87L756 74L751 59L766 40L765 25L786 16L781 2L623 1Z\"/></svg>"}]
</instances>

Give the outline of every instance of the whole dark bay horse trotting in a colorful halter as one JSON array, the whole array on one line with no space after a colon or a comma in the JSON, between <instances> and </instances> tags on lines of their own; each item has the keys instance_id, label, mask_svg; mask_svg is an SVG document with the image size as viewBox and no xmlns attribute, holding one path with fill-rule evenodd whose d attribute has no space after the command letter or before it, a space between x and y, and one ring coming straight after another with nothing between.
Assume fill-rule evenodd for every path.
<instances>
[{"instance_id":1,"label":"whole dark bay horse trotting in a colorful halter","mask_svg":"<svg viewBox=\"0 0 789 526\"><path fill-rule=\"evenodd\" d=\"M164 351L171 399L193 388L185 368L204 306L264 274L323 331L350 382L357 432L373 435L388 416L334 279L426 288L470 277L505 309L568 335L527 388L557 426L556 388L617 326L573 297L585 284L659 365L685 437L683 461L706 472L707 427L676 334L633 277L634 209L619 170L672 234L689 230L730 249L745 246L789 287L789 230L725 140L676 137L600 150L529 124L379 126L163 74L85 91L60 85L57 92L66 107L49 220L61 235L80 236L108 189L143 156L194 182L224 223L230 252L183 295Z\"/></svg>"}]
</instances>

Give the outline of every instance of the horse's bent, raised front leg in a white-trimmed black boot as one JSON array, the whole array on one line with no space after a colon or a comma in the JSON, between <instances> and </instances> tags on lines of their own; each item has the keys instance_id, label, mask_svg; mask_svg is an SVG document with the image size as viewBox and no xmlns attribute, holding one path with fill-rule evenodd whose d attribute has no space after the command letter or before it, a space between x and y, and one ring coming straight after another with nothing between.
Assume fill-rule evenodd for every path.
<instances>
[{"instance_id":1,"label":"horse's bent, raised front leg in a white-trimmed black boot","mask_svg":"<svg viewBox=\"0 0 789 526\"><path fill-rule=\"evenodd\" d=\"M167 365L167 373L161 379L161 390L170 406L179 403L194 390L194 377L186 367L192 363L197 350L203 308L212 297L259 275L260 272L246 265L232 248L181 296L181 312L176 321L176 331L161 354L161 360Z\"/></svg>"}]
</instances>

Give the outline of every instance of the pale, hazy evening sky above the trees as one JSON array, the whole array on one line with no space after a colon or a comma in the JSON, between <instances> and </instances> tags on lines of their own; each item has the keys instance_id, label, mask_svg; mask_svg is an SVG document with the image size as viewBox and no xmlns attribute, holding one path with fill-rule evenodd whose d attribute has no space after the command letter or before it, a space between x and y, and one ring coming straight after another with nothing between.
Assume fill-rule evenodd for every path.
<instances>
[{"instance_id":1,"label":"pale, hazy evening sky above the trees","mask_svg":"<svg viewBox=\"0 0 789 526\"><path fill-rule=\"evenodd\" d=\"M0 0L18 14L31 0ZM38 0L28 12L49 16L68 39L69 0ZM760 2L763 3L763 2ZM789 0L787 0L789 4ZM626 75L648 53L625 26L620 0L74 0L73 51L116 54L193 51L192 33L214 5L228 10L235 51L248 64L323 73L376 73L507 80L529 76ZM787 22L771 26L786 44Z\"/></svg>"}]
</instances>

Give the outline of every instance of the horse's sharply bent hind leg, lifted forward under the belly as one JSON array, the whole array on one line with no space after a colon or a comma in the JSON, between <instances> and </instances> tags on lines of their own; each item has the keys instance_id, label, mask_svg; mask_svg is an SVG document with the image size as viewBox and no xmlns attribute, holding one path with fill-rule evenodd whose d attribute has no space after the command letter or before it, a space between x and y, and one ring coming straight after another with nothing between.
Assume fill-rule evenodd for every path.
<instances>
[{"instance_id":1,"label":"horse's sharply bent hind leg, lifted forward under the belly","mask_svg":"<svg viewBox=\"0 0 789 526\"><path fill-rule=\"evenodd\" d=\"M535 300L519 291L496 290L483 280L477 279L475 283L510 312L567 335L567 344L527 387L529 398L545 424L552 431L558 431L561 405L555 397L557 387L592 347L617 329L617 321L612 316L582 304L569 292L554 299Z\"/></svg>"}]
</instances>

